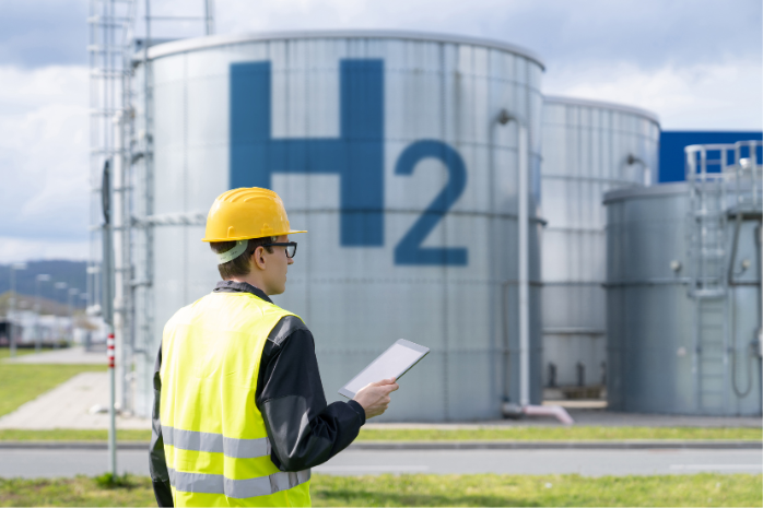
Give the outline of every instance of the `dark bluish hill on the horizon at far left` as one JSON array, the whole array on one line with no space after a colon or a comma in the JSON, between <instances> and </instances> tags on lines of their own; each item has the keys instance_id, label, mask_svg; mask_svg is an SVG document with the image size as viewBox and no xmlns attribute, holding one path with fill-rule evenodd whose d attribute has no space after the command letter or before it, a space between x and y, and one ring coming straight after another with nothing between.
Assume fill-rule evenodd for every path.
<instances>
[{"instance_id":1,"label":"dark bluish hill on the horizon at far left","mask_svg":"<svg viewBox=\"0 0 763 508\"><path fill-rule=\"evenodd\" d=\"M54 284L57 282L66 282L67 291L69 287L77 287L80 290L80 293L86 293L86 268L87 263L85 261L27 261L26 270L17 270L15 272L15 290L19 294L35 296L35 280L37 275L47 273L50 275L50 282L42 282L39 284L39 296L48 300L66 304L68 296L66 291L55 290ZM0 264L0 294L10 291L10 288L11 265ZM84 305L81 298L77 298L78 307L84 307Z\"/></svg>"}]
</instances>

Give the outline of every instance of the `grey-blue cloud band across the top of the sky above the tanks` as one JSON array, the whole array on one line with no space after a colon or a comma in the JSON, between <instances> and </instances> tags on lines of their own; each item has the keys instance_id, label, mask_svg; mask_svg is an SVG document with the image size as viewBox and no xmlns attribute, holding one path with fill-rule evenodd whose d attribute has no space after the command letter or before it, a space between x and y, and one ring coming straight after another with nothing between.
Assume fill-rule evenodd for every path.
<instances>
[{"instance_id":1,"label":"grey-blue cloud band across the top of the sky above the tanks","mask_svg":"<svg viewBox=\"0 0 763 508\"><path fill-rule=\"evenodd\" d=\"M3 0L0 64L84 64L87 0ZM630 62L642 69L761 57L760 0L218 0L219 33L403 28L489 37L550 67ZM126 4L117 3L124 10ZM153 0L154 15L201 15L203 2ZM138 2L137 33L143 33ZM119 12L119 15L125 14ZM153 23L155 36L199 36L198 21Z\"/></svg>"}]
</instances>

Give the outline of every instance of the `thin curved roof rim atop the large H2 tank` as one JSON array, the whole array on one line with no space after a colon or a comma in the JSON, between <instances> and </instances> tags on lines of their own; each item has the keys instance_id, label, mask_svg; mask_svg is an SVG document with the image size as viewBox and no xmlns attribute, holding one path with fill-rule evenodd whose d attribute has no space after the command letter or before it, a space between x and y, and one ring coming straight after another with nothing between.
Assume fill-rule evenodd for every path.
<instances>
[{"instance_id":1,"label":"thin curved roof rim atop the large H2 tank","mask_svg":"<svg viewBox=\"0 0 763 508\"><path fill-rule=\"evenodd\" d=\"M258 32L238 35L213 35L164 43L149 48L149 59L166 57L179 52L206 49L215 46L250 43L258 40L278 39L325 39L325 38L387 38L423 40L431 43L469 44L483 46L491 49L500 49L519 55L536 62L542 70L545 66L540 57L529 49L504 43L501 40L470 37L466 35L438 34L431 32L409 32L396 29L332 29L332 31L294 31L294 32Z\"/></svg>"}]
</instances>

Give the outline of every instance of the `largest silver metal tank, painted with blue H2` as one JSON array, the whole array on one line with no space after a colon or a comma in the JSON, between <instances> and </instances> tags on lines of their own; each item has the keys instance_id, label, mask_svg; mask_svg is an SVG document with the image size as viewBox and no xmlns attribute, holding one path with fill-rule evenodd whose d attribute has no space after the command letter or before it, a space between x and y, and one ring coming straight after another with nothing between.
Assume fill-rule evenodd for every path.
<instances>
[{"instance_id":1,"label":"largest silver metal tank, painted with blue H2","mask_svg":"<svg viewBox=\"0 0 763 508\"><path fill-rule=\"evenodd\" d=\"M219 280L200 241L214 198L270 187L309 232L294 236L298 256L274 302L313 331L329 401L406 338L432 353L379 421L497 418L505 386L519 400L523 160L532 182L530 398L540 401L537 57L447 35L303 32L168 43L149 50L148 76L137 66L149 97L137 139L145 132L153 165L139 191L146 216L136 221L146 232L137 270L151 281L136 305L154 312L137 315L139 350L156 351L163 323ZM529 132L526 160L512 116ZM151 365L137 376L143 414Z\"/></svg>"}]
</instances>

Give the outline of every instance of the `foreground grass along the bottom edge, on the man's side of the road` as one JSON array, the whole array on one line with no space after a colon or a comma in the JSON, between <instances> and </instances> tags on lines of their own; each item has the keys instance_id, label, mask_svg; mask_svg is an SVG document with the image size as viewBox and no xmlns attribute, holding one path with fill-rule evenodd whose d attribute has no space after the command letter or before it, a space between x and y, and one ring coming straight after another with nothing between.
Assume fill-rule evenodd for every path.
<instances>
[{"instance_id":1,"label":"foreground grass along the bottom edge, on the man's side of the road","mask_svg":"<svg viewBox=\"0 0 763 508\"><path fill-rule=\"evenodd\" d=\"M0 506L156 506L148 477L1 480ZM314 474L314 506L761 506L763 476Z\"/></svg>"}]
</instances>

